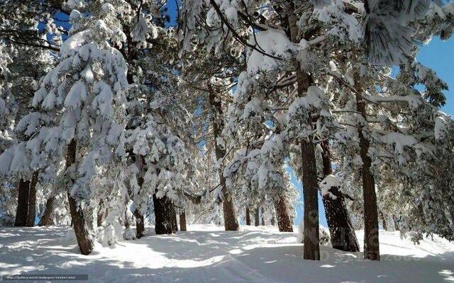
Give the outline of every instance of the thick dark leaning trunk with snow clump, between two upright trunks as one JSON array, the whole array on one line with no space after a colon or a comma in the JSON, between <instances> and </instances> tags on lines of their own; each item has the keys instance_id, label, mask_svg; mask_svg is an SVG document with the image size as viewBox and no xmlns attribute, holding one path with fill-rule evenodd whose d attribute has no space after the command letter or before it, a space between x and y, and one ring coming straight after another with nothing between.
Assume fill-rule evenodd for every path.
<instances>
[{"instance_id":1,"label":"thick dark leaning trunk with snow clump, between two upright trunks","mask_svg":"<svg viewBox=\"0 0 454 283\"><path fill-rule=\"evenodd\" d=\"M333 174L331 168L331 151L328 141L321 142L323 149L323 175ZM345 205L345 198L338 187L331 187L331 195L322 195L323 206L325 207L326 221L328 222L329 233L331 234L331 245L338 250L349 252L360 251L360 245L353 229L350 215Z\"/></svg>"}]
</instances>

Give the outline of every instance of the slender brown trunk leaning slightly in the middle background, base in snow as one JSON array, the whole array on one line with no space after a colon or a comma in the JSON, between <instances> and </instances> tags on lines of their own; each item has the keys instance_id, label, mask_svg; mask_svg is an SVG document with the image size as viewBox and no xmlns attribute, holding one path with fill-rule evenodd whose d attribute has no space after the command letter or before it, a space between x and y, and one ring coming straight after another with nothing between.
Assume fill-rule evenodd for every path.
<instances>
[{"instance_id":1,"label":"slender brown trunk leaning slightly in the middle background, base in snow","mask_svg":"<svg viewBox=\"0 0 454 283\"><path fill-rule=\"evenodd\" d=\"M216 97L214 90L209 91L210 105L216 110L216 117L213 120L213 134L214 134L214 151L216 153L216 160L220 160L226 156L226 149L218 145L217 139L220 137L224 123L223 123L223 110L221 98ZM223 195L222 209L224 216L224 226L226 231L238 231L238 221L236 219L235 208L233 207L233 200L231 194L228 192L226 186L226 178L223 176L223 171L219 169L219 180L221 183L221 190Z\"/></svg>"}]
</instances>

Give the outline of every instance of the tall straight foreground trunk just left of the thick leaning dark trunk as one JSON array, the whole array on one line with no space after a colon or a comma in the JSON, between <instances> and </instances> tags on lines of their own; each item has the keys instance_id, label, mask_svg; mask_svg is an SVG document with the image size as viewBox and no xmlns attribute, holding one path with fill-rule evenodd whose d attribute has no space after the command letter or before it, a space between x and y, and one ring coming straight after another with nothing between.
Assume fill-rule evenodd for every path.
<instances>
[{"instance_id":1,"label":"tall straight foreground trunk just left of the thick leaning dark trunk","mask_svg":"<svg viewBox=\"0 0 454 283\"><path fill-rule=\"evenodd\" d=\"M284 4L285 12L287 13L288 30L287 35L292 39L292 42L299 43L299 28L297 25L297 16L295 15L292 2ZM309 38L306 38L308 40ZM296 63L297 73L297 92L298 96L306 95L306 92L314 82L311 75L301 69L301 64ZM312 125L312 119L309 116L306 121L307 125ZM317 180L317 167L315 158L315 146L312 138L301 140L301 159L302 173L301 180L303 181L304 195L304 259L305 260L320 260L320 245L319 245L319 182Z\"/></svg>"}]
</instances>

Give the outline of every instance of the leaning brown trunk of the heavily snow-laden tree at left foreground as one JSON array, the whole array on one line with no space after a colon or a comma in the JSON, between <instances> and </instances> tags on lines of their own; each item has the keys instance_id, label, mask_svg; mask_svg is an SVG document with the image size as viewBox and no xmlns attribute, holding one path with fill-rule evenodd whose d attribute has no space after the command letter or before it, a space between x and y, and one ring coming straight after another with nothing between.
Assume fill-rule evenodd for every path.
<instances>
[{"instance_id":1,"label":"leaning brown trunk of the heavily snow-laden tree at left foreground","mask_svg":"<svg viewBox=\"0 0 454 283\"><path fill-rule=\"evenodd\" d=\"M70 141L67 149L66 168L69 168L76 162L77 143L74 139ZM71 221L74 225L74 233L76 234L77 243L82 255L89 255L93 250L93 240L89 235L87 224L85 223L84 212L80 204L72 197L70 188L67 190L68 201L70 202Z\"/></svg>"}]
</instances>

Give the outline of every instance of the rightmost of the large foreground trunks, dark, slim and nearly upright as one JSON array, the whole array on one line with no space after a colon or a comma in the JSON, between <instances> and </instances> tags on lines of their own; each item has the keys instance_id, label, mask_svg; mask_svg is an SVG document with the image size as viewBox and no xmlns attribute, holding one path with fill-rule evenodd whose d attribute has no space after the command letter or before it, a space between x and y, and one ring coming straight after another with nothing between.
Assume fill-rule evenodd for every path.
<instances>
[{"instance_id":1,"label":"rightmost of the large foreground trunks, dark, slim and nearly upright","mask_svg":"<svg viewBox=\"0 0 454 283\"><path fill-rule=\"evenodd\" d=\"M360 78L355 78L355 81L359 80ZM362 113L362 117L366 119L365 102L358 95L356 98L356 107L358 112ZM380 260L377 195L375 193L375 178L370 172L372 159L368 155L370 142L364 137L362 128L358 130L358 135L360 137L362 197L364 200L364 258L367 260Z\"/></svg>"}]
</instances>

